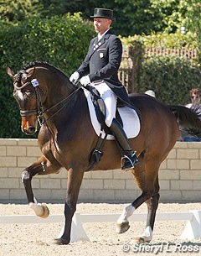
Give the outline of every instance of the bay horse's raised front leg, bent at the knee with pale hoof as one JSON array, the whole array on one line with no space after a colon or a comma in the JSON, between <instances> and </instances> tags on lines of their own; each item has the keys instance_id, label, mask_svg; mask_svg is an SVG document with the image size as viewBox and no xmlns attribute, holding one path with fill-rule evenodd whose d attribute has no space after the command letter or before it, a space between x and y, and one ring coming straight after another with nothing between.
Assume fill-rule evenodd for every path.
<instances>
[{"instance_id":1,"label":"bay horse's raised front leg, bent at the knee with pale hoof","mask_svg":"<svg viewBox=\"0 0 201 256\"><path fill-rule=\"evenodd\" d=\"M26 191L28 204L39 217L48 217L49 209L44 204L39 204L34 198L31 180L34 175L48 175L50 173L55 173L57 170L59 170L59 168L59 165L52 165L44 157L44 155L42 155L36 162L33 163L33 165L30 165L23 170L22 181Z\"/></svg>"}]
</instances>

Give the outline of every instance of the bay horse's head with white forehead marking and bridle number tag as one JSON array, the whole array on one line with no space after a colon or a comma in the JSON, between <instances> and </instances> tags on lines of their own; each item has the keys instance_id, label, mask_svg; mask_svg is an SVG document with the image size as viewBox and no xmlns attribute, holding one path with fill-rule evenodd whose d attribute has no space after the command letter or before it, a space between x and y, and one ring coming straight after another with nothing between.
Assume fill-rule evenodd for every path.
<instances>
[{"instance_id":1,"label":"bay horse's head with white forehead marking and bridle number tag","mask_svg":"<svg viewBox=\"0 0 201 256\"><path fill-rule=\"evenodd\" d=\"M37 131L39 113L44 97L44 90L34 78L35 68L27 71L18 71L17 74L7 67L8 76L13 79L13 97L18 102L22 117L21 128L23 133L32 135Z\"/></svg>"}]
</instances>

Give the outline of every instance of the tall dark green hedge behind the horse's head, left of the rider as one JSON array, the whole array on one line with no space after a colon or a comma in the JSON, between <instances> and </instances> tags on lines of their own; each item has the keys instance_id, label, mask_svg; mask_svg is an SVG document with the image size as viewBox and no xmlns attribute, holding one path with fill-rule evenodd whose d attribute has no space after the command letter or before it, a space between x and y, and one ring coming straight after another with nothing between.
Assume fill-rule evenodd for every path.
<instances>
[{"instance_id":1,"label":"tall dark green hedge behind the horse's head, left of the rider","mask_svg":"<svg viewBox=\"0 0 201 256\"><path fill-rule=\"evenodd\" d=\"M0 24L0 138L28 138L20 129L21 118L6 66L18 71L29 62L41 60L70 76L84 60L94 35L92 23L83 21L79 13L32 19L19 25Z\"/></svg>"}]
</instances>

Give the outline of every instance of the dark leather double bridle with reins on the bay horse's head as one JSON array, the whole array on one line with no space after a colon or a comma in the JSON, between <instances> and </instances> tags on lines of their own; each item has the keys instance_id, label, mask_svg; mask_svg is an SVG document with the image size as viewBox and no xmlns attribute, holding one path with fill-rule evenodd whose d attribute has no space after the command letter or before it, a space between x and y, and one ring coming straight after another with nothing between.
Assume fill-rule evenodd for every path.
<instances>
[{"instance_id":1,"label":"dark leather double bridle with reins on the bay horse's head","mask_svg":"<svg viewBox=\"0 0 201 256\"><path fill-rule=\"evenodd\" d=\"M60 112L62 110L62 108L64 108L65 104L67 102L69 102L72 97L75 95L75 93L80 89L80 87L76 88L75 91L72 91L67 97L64 97L64 99L62 99L61 101L55 103L53 106L47 108L44 110L44 106L43 106L43 102L41 100L41 96L40 96L40 92L39 90L43 91L44 90L42 88L39 87L39 81L37 79L33 79L32 81L28 81L25 84L23 84L22 86L16 86L16 84L14 83L14 88L16 90L22 90L24 87L26 86L33 86L35 89L35 96L36 96L36 109L32 109L32 110L21 110L20 109L20 115L21 117L28 117L31 115L36 115L39 121L39 125L41 126L43 123L46 123L47 121L49 121L50 118L53 118L54 115L56 115L58 112ZM44 113L45 112L49 112L52 109L54 109L54 107L59 106L61 103L64 102L64 105L62 105L61 107L59 107L59 109L54 112L49 118L44 119Z\"/></svg>"}]
</instances>

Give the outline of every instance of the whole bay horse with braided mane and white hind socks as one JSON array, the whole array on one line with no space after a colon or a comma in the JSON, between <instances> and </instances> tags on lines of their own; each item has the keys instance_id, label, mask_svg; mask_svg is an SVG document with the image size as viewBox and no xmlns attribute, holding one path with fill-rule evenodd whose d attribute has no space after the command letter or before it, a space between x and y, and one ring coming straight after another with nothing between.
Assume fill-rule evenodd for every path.
<instances>
[{"instance_id":1,"label":"whole bay horse with braided mane and white hind socks","mask_svg":"<svg viewBox=\"0 0 201 256\"><path fill-rule=\"evenodd\" d=\"M20 108L23 133L35 133L38 120L43 119L38 136L42 155L22 172L28 204L37 216L48 217L49 209L33 196L33 176L55 174L61 167L68 170L64 232L55 239L57 244L68 244L80 185L85 171L89 170L90 154L98 139L90 122L84 92L75 87L62 71L48 63L30 63L17 74L7 67L7 73L13 79L13 96ZM116 232L126 232L128 217L146 202L147 225L137 238L139 243L144 243L152 240L159 200L158 170L178 139L178 122L198 129L201 123L196 114L186 107L168 106L145 94L133 94L130 99L142 115L140 133L131 139L140 159L140 164L131 170L131 174L142 194L124 208L117 220ZM93 170L119 169L120 159L115 140L107 140L101 161Z\"/></svg>"}]
</instances>

